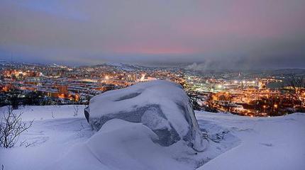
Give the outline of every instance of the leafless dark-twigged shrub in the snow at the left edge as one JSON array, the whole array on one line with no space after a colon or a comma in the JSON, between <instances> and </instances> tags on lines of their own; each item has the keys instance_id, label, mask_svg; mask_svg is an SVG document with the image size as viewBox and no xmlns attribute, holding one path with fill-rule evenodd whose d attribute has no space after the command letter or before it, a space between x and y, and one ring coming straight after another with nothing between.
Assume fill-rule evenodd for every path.
<instances>
[{"instance_id":1,"label":"leafless dark-twigged shrub in the snow at the left edge","mask_svg":"<svg viewBox=\"0 0 305 170\"><path fill-rule=\"evenodd\" d=\"M0 122L0 147L13 147L18 142L21 133L26 132L32 126L34 120L27 124L22 120L22 114L22 112L13 113L11 107L4 112L4 117Z\"/></svg>"}]
</instances>

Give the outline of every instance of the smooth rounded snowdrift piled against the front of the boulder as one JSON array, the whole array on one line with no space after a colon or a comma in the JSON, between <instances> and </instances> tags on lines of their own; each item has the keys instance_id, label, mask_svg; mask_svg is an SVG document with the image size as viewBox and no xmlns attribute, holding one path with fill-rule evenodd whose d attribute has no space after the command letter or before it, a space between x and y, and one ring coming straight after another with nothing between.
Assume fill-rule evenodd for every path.
<instances>
[{"instance_id":1,"label":"smooth rounded snowdrift piled against the front of the boulder","mask_svg":"<svg viewBox=\"0 0 305 170\"><path fill-rule=\"evenodd\" d=\"M47 169L194 169L199 158L184 141L162 147L155 139L142 123L112 119Z\"/></svg>"}]
</instances>

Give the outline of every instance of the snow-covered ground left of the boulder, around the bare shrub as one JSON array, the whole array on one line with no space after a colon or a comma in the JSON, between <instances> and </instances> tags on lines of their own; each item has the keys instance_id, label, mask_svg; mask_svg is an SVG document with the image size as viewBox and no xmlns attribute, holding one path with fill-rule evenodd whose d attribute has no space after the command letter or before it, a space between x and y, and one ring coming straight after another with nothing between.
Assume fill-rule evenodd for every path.
<instances>
[{"instance_id":1,"label":"snow-covered ground left of the boulder, around the bare shrub","mask_svg":"<svg viewBox=\"0 0 305 170\"><path fill-rule=\"evenodd\" d=\"M74 117L74 106L26 106L14 112L23 112L24 121L34 120L24 132L16 147L0 148L0 167L6 169L45 169L65 154L73 145L86 141L93 132L84 114ZM79 106L79 110L84 106ZM6 107L0 108L0 119ZM20 146L20 142L25 142ZM27 145L29 145L27 147Z\"/></svg>"}]
</instances>

